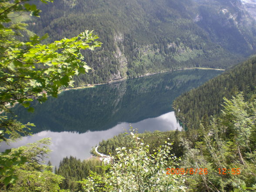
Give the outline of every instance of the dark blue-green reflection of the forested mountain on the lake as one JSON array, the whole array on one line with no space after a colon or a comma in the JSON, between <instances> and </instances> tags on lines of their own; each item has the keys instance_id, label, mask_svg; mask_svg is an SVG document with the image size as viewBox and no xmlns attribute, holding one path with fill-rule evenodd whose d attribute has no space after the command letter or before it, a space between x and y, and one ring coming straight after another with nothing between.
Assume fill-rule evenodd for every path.
<instances>
[{"instance_id":1,"label":"dark blue-green reflection of the forested mountain on the lake","mask_svg":"<svg viewBox=\"0 0 256 192\"><path fill-rule=\"evenodd\" d=\"M213 70L185 70L130 79L63 92L44 104L34 103L35 112L17 106L19 120L33 122L34 133L50 131L103 131L118 122L135 123L172 110L172 101L185 91L220 74Z\"/></svg>"}]
</instances>

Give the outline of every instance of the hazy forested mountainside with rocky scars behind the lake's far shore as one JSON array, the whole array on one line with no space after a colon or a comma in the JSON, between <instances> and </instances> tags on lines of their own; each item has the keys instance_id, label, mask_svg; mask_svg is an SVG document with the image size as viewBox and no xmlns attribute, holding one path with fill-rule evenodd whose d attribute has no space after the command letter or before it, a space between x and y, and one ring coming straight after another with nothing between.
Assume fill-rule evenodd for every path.
<instances>
[{"instance_id":1,"label":"hazy forested mountainside with rocky scars behind the lake's far shore","mask_svg":"<svg viewBox=\"0 0 256 192\"><path fill-rule=\"evenodd\" d=\"M240 0L55 0L30 30L48 41L94 30L93 68L78 84L184 67L226 68L255 53L255 20Z\"/></svg>"}]
</instances>

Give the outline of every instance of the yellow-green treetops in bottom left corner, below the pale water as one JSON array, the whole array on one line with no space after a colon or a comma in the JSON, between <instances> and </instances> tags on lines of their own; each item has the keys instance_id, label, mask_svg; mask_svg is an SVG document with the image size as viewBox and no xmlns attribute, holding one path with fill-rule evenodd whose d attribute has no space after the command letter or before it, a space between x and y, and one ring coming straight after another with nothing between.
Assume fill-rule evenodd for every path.
<instances>
[{"instance_id":1,"label":"yellow-green treetops in bottom left corner, below the pale water","mask_svg":"<svg viewBox=\"0 0 256 192\"><path fill-rule=\"evenodd\" d=\"M1 192L60 191L59 184L64 178L48 171L51 166L42 164L43 158L50 152L49 144L50 139L44 138L1 153Z\"/></svg>"}]
</instances>

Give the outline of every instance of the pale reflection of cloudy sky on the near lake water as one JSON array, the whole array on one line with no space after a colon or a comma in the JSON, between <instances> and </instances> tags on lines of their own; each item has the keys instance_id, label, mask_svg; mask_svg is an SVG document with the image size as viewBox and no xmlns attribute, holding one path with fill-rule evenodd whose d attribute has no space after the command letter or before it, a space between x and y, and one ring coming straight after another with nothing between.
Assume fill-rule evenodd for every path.
<instances>
[{"instance_id":1,"label":"pale reflection of cloudy sky on the near lake water","mask_svg":"<svg viewBox=\"0 0 256 192\"><path fill-rule=\"evenodd\" d=\"M66 156L74 156L80 159L90 158L91 148L98 145L102 139L108 139L114 135L129 130L130 125L133 128L138 128L138 132L148 131L168 131L178 128L181 130L179 123L176 121L174 112L169 112L157 118L148 118L143 121L129 124L126 122L118 123L115 127L105 131L88 131L79 134L77 132L53 132L41 131L33 136L23 137L20 141L12 143L10 146L3 144L1 149L17 148L27 143L36 142L42 138L51 138L52 144L50 149L53 151L49 154L49 159L53 165L58 165L59 162ZM48 159L46 159L47 162Z\"/></svg>"}]
</instances>

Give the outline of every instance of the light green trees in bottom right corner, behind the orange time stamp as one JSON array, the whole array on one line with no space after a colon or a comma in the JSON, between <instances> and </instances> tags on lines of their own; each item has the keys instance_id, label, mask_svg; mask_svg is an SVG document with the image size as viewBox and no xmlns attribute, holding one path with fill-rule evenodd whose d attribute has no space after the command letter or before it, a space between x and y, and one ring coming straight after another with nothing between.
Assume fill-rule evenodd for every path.
<instances>
[{"instance_id":1,"label":"light green trees in bottom right corner, behind the orange time stamp","mask_svg":"<svg viewBox=\"0 0 256 192\"><path fill-rule=\"evenodd\" d=\"M225 99L220 117L206 127L200 125L195 143L184 141L181 166L203 167L209 171L208 175L187 178L189 191L250 192L256 189L256 145L252 137L256 114L251 113L255 111L255 104L256 101L245 102L242 94L232 100Z\"/></svg>"}]
</instances>

